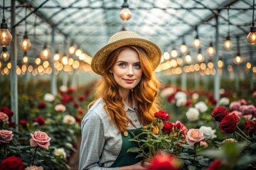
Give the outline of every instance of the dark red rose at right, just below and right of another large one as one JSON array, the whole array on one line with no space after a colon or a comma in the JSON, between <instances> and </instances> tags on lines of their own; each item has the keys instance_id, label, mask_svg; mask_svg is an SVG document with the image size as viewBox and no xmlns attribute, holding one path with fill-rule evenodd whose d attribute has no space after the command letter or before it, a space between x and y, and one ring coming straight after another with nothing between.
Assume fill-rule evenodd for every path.
<instances>
[{"instance_id":1,"label":"dark red rose at right, just below and right of another large one","mask_svg":"<svg viewBox=\"0 0 256 170\"><path fill-rule=\"evenodd\" d=\"M233 133L238 128L237 123L239 122L239 118L235 113L232 115L226 115L223 120L221 120L219 128L222 132L225 133Z\"/></svg>"}]
</instances>

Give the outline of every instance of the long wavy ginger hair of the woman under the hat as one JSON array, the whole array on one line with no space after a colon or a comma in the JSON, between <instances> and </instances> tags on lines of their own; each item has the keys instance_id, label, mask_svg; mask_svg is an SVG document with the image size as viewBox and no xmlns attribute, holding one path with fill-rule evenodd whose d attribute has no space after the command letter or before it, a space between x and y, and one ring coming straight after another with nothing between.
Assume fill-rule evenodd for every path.
<instances>
[{"instance_id":1,"label":"long wavy ginger hair of the woman under the hat","mask_svg":"<svg viewBox=\"0 0 256 170\"><path fill-rule=\"evenodd\" d=\"M130 95L132 95L133 100L138 106L137 116L139 122L142 123L142 125L149 125L149 123L154 120L154 113L159 111L160 107L157 95L160 83L154 76L153 67L146 52L141 47L137 46L126 46L115 50L107 58L105 63L107 67L103 74L103 79L101 79L95 91L95 97L97 99L103 99L105 102L105 111L110 115L112 123L117 126L119 132L127 130L128 123L132 124L132 121L127 118L126 112L124 111L122 96L119 95L119 85L114 80L113 74L110 73L110 69L114 66L115 62L117 62L119 53L124 49L132 49L138 53L142 68L142 79L130 92ZM97 101L97 99L95 101ZM92 101L88 108L90 108L95 101Z\"/></svg>"}]
</instances>

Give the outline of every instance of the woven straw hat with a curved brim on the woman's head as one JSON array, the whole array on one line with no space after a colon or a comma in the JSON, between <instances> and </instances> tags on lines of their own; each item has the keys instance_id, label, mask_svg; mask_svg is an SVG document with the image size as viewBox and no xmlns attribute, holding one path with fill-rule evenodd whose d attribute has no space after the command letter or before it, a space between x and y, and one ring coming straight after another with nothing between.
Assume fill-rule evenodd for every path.
<instances>
[{"instance_id":1,"label":"woven straw hat with a curved brim on the woman's head","mask_svg":"<svg viewBox=\"0 0 256 170\"><path fill-rule=\"evenodd\" d=\"M158 67L161 61L161 50L154 42L144 38L139 38L139 35L132 31L120 31L112 35L107 45L102 47L102 49L92 57L92 70L95 73L102 75L105 72L107 57L109 57L114 50L117 50L117 48L127 45L142 47L149 56L149 60L153 64L153 68L156 69L156 67Z\"/></svg>"}]
</instances>

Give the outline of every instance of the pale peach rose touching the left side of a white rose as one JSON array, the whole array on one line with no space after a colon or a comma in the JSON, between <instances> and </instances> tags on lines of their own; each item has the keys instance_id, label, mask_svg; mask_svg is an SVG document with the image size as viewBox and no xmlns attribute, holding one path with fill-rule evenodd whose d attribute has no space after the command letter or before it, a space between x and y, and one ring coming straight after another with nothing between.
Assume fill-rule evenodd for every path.
<instances>
[{"instance_id":1,"label":"pale peach rose touching the left side of a white rose","mask_svg":"<svg viewBox=\"0 0 256 170\"><path fill-rule=\"evenodd\" d=\"M193 146L197 142L201 142L203 140L203 132L198 129L190 129L187 132L186 140L188 145Z\"/></svg>"}]
</instances>

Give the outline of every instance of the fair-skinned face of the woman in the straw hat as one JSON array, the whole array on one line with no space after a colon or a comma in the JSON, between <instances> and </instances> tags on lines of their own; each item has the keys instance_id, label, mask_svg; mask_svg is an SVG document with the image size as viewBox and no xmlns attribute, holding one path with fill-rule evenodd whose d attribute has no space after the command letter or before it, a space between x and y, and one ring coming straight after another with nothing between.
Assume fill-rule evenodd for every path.
<instances>
[{"instance_id":1,"label":"fair-skinned face of the woman in the straw hat","mask_svg":"<svg viewBox=\"0 0 256 170\"><path fill-rule=\"evenodd\" d=\"M120 90L134 89L142 79L138 53L129 48L122 50L110 72L113 74L114 80L119 84Z\"/></svg>"}]
</instances>

